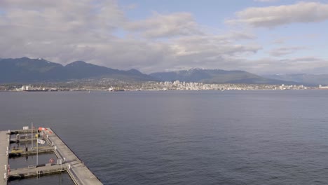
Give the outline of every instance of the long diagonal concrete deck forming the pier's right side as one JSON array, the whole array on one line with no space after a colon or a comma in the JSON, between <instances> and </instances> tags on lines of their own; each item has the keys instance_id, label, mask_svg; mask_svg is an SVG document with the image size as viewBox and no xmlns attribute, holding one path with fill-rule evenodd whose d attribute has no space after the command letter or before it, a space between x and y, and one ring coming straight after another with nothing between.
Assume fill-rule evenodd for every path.
<instances>
[{"instance_id":1,"label":"long diagonal concrete deck forming the pier's right side","mask_svg":"<svg viewBox=\"0 0 328 185\"><path fill-rule=\"evenodd\" d=\"M47 129L53 132L50 128ZM102 184L55 132L48 134L48 142L50 145L54 143L54 146L56 146L54 151L57 158L65 158L66 162L64 164L67 165L67 172L75 184Z\"/></svg>"}]
</instances>

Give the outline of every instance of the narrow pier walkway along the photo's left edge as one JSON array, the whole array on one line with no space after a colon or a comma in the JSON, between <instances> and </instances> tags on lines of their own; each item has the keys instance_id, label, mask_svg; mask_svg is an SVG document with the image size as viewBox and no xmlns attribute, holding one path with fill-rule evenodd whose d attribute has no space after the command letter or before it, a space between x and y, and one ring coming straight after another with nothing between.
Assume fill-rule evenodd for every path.
<instances>
[{"instance_id":1,"label":"narrow pier walkway along the photo's left edge","mask_svg":"<svg viewBox=\"0 0 328 185\"><path fill-rule=\"evenodd\" d=\"M8 167L8 156L6 155L7 147L9 147L7 131L0 131L0 185L7 184L4 174L7 175L6 165Z\"/></svg>"}]
</instances>

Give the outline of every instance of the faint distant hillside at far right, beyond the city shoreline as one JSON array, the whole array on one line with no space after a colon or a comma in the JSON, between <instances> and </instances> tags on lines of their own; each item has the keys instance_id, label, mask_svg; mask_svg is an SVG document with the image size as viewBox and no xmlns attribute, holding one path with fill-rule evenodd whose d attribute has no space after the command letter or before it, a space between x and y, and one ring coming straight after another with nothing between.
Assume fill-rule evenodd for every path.
<instances>
[{"instance_id":1,"label":"faint distant hillside at far right, beyond the city shoreline","mask_svg":"<svg viewBox=\"0 0 328 185\"><path fill-rule=\"evenodd\" d=\"M281 81L296 81L304 85L328 85L328 74L273 74L266 77Z\"/></svg>"}]
</instances>

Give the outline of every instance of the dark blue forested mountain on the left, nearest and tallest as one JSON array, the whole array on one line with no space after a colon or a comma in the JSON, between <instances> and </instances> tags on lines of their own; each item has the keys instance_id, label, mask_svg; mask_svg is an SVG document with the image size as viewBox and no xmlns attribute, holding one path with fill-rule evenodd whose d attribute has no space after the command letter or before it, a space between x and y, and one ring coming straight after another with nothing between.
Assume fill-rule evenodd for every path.
<instances>
[{"instance_id":1,"label":"dark blue forested mountain on the left, nearest and tallest","mask_svg":"<svg viewBox=\"0 0 328 185\"><path fill-rule=\"evenodd\" d=\"M142 74L135 69L122 71L88 64L83 61L76 61L62 66L62 64L49 62L41 58L0 59L0 83L67 81L101 76L126 81L156 81L156 78Z\"/></svg>"}]
</instances>

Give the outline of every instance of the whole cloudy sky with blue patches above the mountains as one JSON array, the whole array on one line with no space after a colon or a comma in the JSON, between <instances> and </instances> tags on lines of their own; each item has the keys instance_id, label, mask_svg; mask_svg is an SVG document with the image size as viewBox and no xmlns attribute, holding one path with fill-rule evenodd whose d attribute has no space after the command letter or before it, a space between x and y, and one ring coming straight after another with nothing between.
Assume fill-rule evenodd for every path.
<instances>
[{"instance_id":1,"label":"whole cloudy sky with blue patches above the mountains","mask_svg":"<svg viewBox=\"0 0 328 185\"><path fill-rule=\"evenodd\" d=\"M328 0L1 0L0 57L328 74Z\"/></svg>"}]
</instances>

